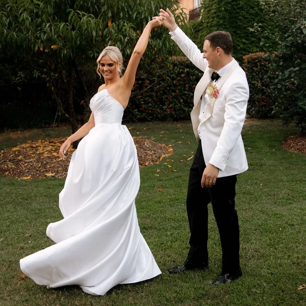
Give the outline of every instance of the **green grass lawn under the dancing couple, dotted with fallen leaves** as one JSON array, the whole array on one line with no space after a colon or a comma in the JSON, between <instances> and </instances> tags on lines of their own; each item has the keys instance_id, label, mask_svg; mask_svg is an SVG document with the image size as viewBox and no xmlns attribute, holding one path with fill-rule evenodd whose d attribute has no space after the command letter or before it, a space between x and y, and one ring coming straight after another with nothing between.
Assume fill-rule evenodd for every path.
<instances>
[{"instance_id":1,"label":"green grass lawn under the dancing couple, dotted with fallen leaves","mask_svg":"<svg viewBox=\"0 0 306 306\"><path fill-rule=\"evenodd\" d=\"M280 121L273 120L249 121L244 126L249 170L238 175L236 189L244 276L232 284L213 286L210 282L221 271L221 246L211 205L210 269L168 274L169 268L184 262L188 252L185 197L193 159L187 159L197 146L191 123L127 126L133 127L133 136L174 144L168 161L140 169L136 199L140 230L162 275L134 285L118 285L104 297L83 293L77 286L47 289L22 278L19 259L52 244L45 230L50 222L62 218L58 193L64 179L0 178L0 305L306 305L306 290L297 290L306 284L306 156L281 146L282 140L298 130L283 128ZM19 134L14 139L2 135L0 149L27 140L68 136L69 129Z\"/></svg>"}]
</instances>

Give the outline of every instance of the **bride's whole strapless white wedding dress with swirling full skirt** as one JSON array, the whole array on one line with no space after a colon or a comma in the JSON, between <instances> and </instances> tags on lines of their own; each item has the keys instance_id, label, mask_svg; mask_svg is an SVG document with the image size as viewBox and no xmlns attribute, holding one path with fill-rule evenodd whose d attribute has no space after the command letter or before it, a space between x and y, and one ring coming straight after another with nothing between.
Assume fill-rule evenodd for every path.
<instances>
[{"instance_id":1,"label":"bride's whole strapless white wedding dress with swirling full skirt","mask_svg":"<svg viewBox=\"0 0 306 306\"><path fill-rule=\"evenodd\" d=\"M139 165L132 136L121 125L123 106L103 89L90 108L95 127L73 152L59 194L64 219L47 227L56 244L21 259L20 267L39 285L79 285L104 295L161 271L138 226Z\"/></svg>"}]
</instances>

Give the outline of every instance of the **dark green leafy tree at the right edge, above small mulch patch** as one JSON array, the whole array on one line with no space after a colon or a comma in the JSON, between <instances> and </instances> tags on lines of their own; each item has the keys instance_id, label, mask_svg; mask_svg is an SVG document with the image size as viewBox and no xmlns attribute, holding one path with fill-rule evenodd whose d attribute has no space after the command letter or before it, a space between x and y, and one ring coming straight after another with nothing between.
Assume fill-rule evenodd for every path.
<instances>
[{"instance_id":1,"label":"dark green leafy tree at the right edge, above small mulch patch","mask_svg":"<svg viewBox=\"0 0 306 306\"><path fill-rule=\"evenodd\" d=\"M306 132L306 1L266 0L262 5L276 24L276 32L259 24L250 30L271 54L277 51L271 62L273 73L269 75L269 91L275 101L273 114L284 124L295 122Z\"/></svg>"}]
</instances>

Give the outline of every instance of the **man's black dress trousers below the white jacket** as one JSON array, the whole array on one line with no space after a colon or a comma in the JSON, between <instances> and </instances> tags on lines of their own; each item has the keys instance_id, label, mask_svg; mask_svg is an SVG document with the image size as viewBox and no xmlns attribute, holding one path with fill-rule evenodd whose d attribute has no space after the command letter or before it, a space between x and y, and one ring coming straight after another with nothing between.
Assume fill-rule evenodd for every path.
<instances>
[{"instance_id":1,"label":"man's black dress trousers below the white jacket","mask_svg":"<svg viewBox=\"0 0 306 306\"><path fill-rule=\"evenodd\" d=\"M201 141L189 173L187 214L190 227L188 259L194 266L208 265L208 209L211 202L222 247L222 273L239 269L239 225L235 210L237 175L219 177L211 188L202 188L201 180L206 168Z\"/></svg>"}]
</instances>

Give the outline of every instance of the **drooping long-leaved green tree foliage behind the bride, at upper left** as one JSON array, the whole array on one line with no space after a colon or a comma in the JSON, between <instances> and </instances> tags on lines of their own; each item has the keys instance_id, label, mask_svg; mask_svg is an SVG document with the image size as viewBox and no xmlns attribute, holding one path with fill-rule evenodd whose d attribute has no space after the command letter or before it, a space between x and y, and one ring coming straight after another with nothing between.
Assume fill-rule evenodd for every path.
<instances>
[{"instance_id":1,"label":"drooping long-leaved green tree foliage behind the bride, at upper left","mask_svg":"<svg viewBox=\"0 0 306 306\"><path fill-rule=\"evenodd\" d=\"M175 0L7 0L0 2L0 54L16 73L7 79L21 89L46 83L59 114L77 129L78 114L90 115L89 101L99 79L95 60L107 45L117 46L125 65L143 28L161 7ZM182 10L177 22L184 24ZM18 50L18 51L17 51ZM165 28L152 31L140 67L176 52ZM5 78L6 79L6 78ZM3 83L2 83L3 84Z\"/></svg>"}]
</instances>

